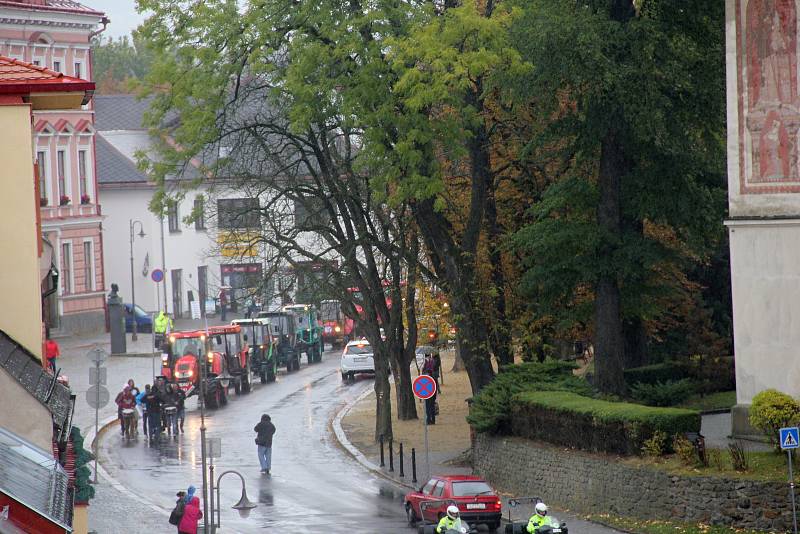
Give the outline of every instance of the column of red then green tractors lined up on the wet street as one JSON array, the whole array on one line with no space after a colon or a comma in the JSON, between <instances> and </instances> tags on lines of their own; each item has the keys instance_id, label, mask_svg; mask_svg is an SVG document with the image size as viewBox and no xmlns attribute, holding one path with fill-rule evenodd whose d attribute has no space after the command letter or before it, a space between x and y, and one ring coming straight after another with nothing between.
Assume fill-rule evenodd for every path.
<instances>
[{"instance_id":1,"label":"column of red then green tractors lined up on the wet street","mask_svg":"<svg viewBox=\"0 0 800 534\"><path fill-rule=\"evenodd\" d=\"M161 347L161 374L187 398L202 394L207 407L218 408L227 404L230 388L236 395L249 393L253 376L266 384L275 381L279 367L300 369L303 353L309 364L321 362L322 333L319 313L309 304L172 332Z\"/></svg>"}]
</instances>

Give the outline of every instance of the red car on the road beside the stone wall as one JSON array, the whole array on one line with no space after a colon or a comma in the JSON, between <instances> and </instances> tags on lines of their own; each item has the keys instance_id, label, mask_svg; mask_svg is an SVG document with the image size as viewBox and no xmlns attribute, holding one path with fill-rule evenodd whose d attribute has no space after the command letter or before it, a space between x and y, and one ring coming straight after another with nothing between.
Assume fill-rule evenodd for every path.
<instances>
[{"instance_id":1,"label":"red car on the road beside the stone wall","mask_svg":"<svg viewBox=\"0 0 800 534\"><path fill-rule=\"evenodd\" d=\"M455 503L464 519L470 526L484 524L490 531L500 527L502 515L500 497L480 477L472 475L437 475L431 478L419 491L412 491L405 496L406 516L411 525L422 519L420 504L437 502L425 508L425 520L428 523L438 522L444 517L447 506ZM439 502L444 501L444 502Z\"/></svg>"}]
</instances>

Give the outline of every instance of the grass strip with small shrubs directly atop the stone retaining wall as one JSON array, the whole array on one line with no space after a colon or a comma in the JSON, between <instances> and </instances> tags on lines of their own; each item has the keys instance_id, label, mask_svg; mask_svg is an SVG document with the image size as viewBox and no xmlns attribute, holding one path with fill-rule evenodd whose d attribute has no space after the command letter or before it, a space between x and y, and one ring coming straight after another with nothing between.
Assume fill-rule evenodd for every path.
<instances>
[{"instance_id":1,"label":"grass strip with small shrubs directly atop the stone retaining wall","mask_svg":"<svg viewBox=\"0 0 800 534\"><path fill-rule=\"evenodd\" d=\"M748 470L735 471L731 465L730 455L727 450L710 449L708 467L687 467L680 459L673 456L663 458L629 458L623 460L636 465L648 465L662 469L669 473L685 476L715 476L724 475L731 478L759 480L766 482L786 482L787 468L786 455L772 452L748 452Z\"/></svg>"}]
</instances>

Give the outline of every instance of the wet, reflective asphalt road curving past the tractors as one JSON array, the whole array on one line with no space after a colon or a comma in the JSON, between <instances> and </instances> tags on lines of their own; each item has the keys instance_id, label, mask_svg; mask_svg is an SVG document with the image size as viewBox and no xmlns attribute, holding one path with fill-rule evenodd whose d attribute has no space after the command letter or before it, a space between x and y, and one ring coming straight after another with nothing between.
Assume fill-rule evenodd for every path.
<instances>
[{"instance_id":1,"label":"wet, reflective asphalt road curving past the tractors","mask_svg":"<svg viewBox=\"0 0 800 534\"><path fill-rule=\"evenodd\" d=\"M239 471L250 500L258 504L249 518L239 518L231 506L239 500L241 484L235 475L227 475L221 490L225 532L414 532L405 521L405 490L364 471L329 432L338 409L373 386L372 380L343 383L338 363L338 353L326 352L320 364L303 364L292 374L280 372L276 383L256 383L247 395L237 397L231 389L227 406L206 410L207 437L222 439L215 477L228 469ZM269 413L277 428L271 477L260 474L254 443L253 427L262 413ZM101 462L111 476L167 509L175 492L189 484L200 494L196 397L187 401L185 434L162 435L157 445L149 446L141 437L141 424L139 429L135 442L123 443L116 431L102 439Z\"/></svg>"}]
</instances>

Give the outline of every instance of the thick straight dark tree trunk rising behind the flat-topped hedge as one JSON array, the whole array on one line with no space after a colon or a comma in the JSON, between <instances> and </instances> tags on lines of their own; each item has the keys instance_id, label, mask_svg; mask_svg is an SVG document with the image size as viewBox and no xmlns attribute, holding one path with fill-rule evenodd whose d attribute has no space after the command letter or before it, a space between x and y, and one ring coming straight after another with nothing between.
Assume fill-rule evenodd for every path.
<instances>
[{"instance_id":1,"label":"thick straight dark tree trunk rising behind the flat-topped hedge","mask_svg":"<svg viewBox=\"0 0 800 534\"><path fill-rule=\"evenodd\" d=\"M597 224L602 231L597 261L601 274L595 289L595 372L597 388L620 395L625 391L622 375L624 343L619 281L614 269L614 252L622 238L621 182L625 163L615 131L602 141L597 187L600 202Z\"/></svg>"}]
</instances>

